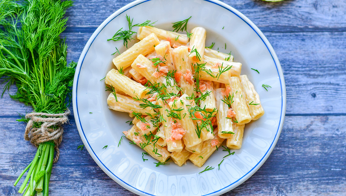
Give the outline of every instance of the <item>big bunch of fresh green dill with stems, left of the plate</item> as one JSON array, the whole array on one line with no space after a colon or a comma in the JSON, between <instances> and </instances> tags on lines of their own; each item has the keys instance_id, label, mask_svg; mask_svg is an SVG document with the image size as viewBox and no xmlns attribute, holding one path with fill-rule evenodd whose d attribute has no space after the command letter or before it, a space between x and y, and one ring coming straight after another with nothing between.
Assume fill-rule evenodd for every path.
<instances>
[{"instance_id":1,"label":"big bunch of fresh green dill with stems, left of the plate","mask_svg":"<svg viewBox=\"0 0 346 196\"><path fill-rule=\"evenodd\" d=\"M11 98L31 105L35 112L57 114L68 108L76 63L67 65L67 45L60 34L66 28L66 9L72 5L70 0L0 1L2 94L15 84L18 91ZM41 124L35 122L34 127ZM53 141L39 144L33 161L14 184L29 169L19 193L48 195L54 146Z\"/></svg>"}]
</instances>

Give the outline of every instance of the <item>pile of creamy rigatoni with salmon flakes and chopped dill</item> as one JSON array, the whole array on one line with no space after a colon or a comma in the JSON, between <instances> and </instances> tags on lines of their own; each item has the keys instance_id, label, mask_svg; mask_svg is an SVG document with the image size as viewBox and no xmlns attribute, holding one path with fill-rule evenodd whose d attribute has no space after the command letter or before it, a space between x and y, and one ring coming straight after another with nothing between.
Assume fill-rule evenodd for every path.
<instances>
[{"instance_id":1,"label":"pile of creamy rigatoni with salmon flakes and chopped dill","mask_svg":"<svg viewBox=\"0 0 346 196\"><path fill-rule=\"evenodd\" d=\"M124 131L130 143L158 165L170 157L178 166L190 160L201 167L224 140L227 151L239 149L245 124L264 114L254 86L240 75L242 64L206 48L202 27L185 35L141 26L137 39L113 59L118 70L105 80L108 107L133 117Z\"/></svg>"}]
</instances>

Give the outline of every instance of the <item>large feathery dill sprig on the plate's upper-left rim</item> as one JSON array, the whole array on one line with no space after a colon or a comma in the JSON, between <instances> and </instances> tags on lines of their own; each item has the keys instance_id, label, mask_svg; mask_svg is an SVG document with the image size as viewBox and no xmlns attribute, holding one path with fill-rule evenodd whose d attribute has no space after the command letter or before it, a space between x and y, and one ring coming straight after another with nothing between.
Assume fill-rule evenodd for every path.
<instances>
[{"instance_id":1,"label":"large feathery dill sprig on the plate's upper-left rim","mask_svg":"<svg viewBox=\"0 0 346 196\"><path fill-rule=\"evenodd\" d=\"M129 30L122 30L123 28L121 28L113 35L112 38L107 39L107 41L110 41L110 40L113 40L113 41L124 40L124 46L126 46L126 48L127 48L128 41L130 41L131 39L135 39L135 38L132 37L136 33L135 31L132 31L133 27L141 27L141 26L153 27L153 25L156 23L156 22L152 22L150 20L146 20L142 24L132 25L133 18L131 20L130 16L127 16L127 15L126 15L126 20L128 22Z\"/></svg>"}]
</instances>

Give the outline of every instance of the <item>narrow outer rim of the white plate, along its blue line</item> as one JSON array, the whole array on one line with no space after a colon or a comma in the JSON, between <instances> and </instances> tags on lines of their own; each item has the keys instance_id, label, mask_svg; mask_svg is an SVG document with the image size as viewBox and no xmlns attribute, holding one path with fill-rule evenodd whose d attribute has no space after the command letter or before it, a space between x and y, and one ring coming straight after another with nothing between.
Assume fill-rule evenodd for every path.
<instances>
[{"instance_id":1,"label":"narrow outer rim of the white plate, along its blue line","mask_svg":"<svg viewBox=\"0 0 346 196\"><path fill-rule=\"evenodd\" d=\"M93 41L95 40L95 38L99 35L99 33L102 31L102 29L103 29L104 27L106 27L106 26L109 24L110 21L112 21L113 19L115 19L116 17L118 17L120 14L124 13L124 12L127 11L128 9L131 9L131 8L133 8L133 7L135 7L135 6L138 6L139 4L145 3L145 2L147 2L147 1L152 1L152 0L137 0L137 1L134 1L134 2L132 2L132 3L127 4L126 6L120 8L119 10L117 10L115 13L112 14L112 15L115 15L115 14L116 14L116 16L114 16L113 18L111 18L112 15L111 15L110 17L108 17L105 21L107 21L107 20L109 20L109 21L108 21L106 24L104 24L105 21L102 22L102 24L94 31L94 33L92 34L92 36L91 36L90 39L88 40L88 43L85 45L85 46L89 45L88 49L85 51L85 47L84 47L84 49L83 49L83 51L82 51L82 54L81 54L81 56L80 56L80 58L79 58L79 61L78 61L78 67L77 67L77 69L79 69L79 70L78 70L78 75L77 75L77 77L76 77L76 75L75 75L75 78L74 78L75 80L74 80L74 81L76 81L76 82L74 82L74 84L73 84L73 88L75 88L75 90L73 90L73 95L75 95L75 99L73 99L73 100L75 100L75 101L73 101L73 109L76 111L76 113L74 113L74 117L75 117L76 122L79 122L79 125L80 125L80 129L79 129L79 130L82 131L83 137L84 137L84 138L82 137L81 132L79 132L79 133L80 133L80 136L81 136L81 138L82 138L84 144L85 144L84 139L85 139L86 143L88 143L88 146L86 146L86 148L88 149L88 152L90 153L90 150L91 150L92 153L94 154L94 156L97 158L97 160L95 160L95 158L93 157L93 159L96 161L96 163L97 163L99 166L100 166L100 164L101 164L101 165L103 166L104 169L107 169L114 177L116 177L116 178L119 179L122 183L124 183L125 185L128 186L128 187L123 186L124 188L126 188L126 189L128 189L128 190L131 189L130 191L132 191L132 192L134 192L134 191L136 192L136 190L137 190L137 191L140 192L140 193L144 193L144 194L151 195L151 196L156 196L156 195L153 195L153 194L150 194L150 193L146 193L146 192L144 192L144 191L142 191L142 190L139 190L139 189L137 189L137 188L135 188L135 187L133 187L133 186L127 184L125 181L123 181L122 179L120 179L119 177L117 177L115 174L113 174L113 172L110 171L110 170L103 164L103 162L99 159L99 157L96 155L96 153L94 152L94 150L91 148L91 146L90 146L90 144L89 144L89 141L86 139L85 133L84 133L83 128L82 128L82 123L81 123L80 118L79 118L78 102L77 102L78 79L79 79L81 67L82 67L82 65L83 65L84 58L85 58L86 54L88 53L89 48L90 48L91 44L93 43ZM261 32L261 30L258 29L257 26L254 25L254 24L253 24L247 17L245 17L242 13L240 13L240 12L237 11L236 9L232 8L231 6L229 6L229 5L227 5L227 4L223 3L223 2L220 2L220 1L218 1L218 0L202 0L202 1L207 1L207 2L210 2L210 3L216 4L216 5L218 5L218 6L222 7L222 8L224 8L224 9L226 9L226 10L232 12L234 15L236 15L237 17L239 17L240 19L242 19L249 27L251 27L251 28L256 32L256 34L258 35L258 37L261 38L261 40L263 41L264 45L267 47L268 52L270 53L270 55L271 55L272 58L273 58L273 61L274 61L275 67L276 67L276 71L277 71L277 74L278 74L278 76L279 76L280 87L281 87L281 115L280 115L280 121L279 121L279 125L278 125L278 128L277 128L277 131L276 131L276 133L275 133L275 137L274 137L274 139L273 139L273 142L271 143L271 145L270 145L270 147L268 148L267 152L264 154L264 156L261 158L261 160L258 161L258 163L257 163L251 170L249 170L244 176L240 177L238 180L234 181L233 183L231 183L230 185L228 185L228 186L226 186L226 187L224 187L224 188L221 188L221 189L219 189L219 190L217 190L217 191L215 191L215 192L206 194L206 195L211 195L211 194L215 194L215 193L218 193L218 192L219 192L219 194L223 194L223 193L229 191L229 190L225 190L225 189L226 189L227 187L230 187L231 185L234 185L234 184L237 183L239 180L241 180L241 179L243 179L245 176L247 176L247 178L245 178L245 179L240 183L240 184L242 184L245 180L247 180L249 177L251 177L251 176L263 165L263 163L265 162L265 160L268 158L268 156L270 155L270 153L272 152L272 150L273 150L273 148L274 148L274 147L273 147L273 144L274 144L274 142L275 142L275 144L276 144L277 139L279 138L278 135L280 136L280 133L281 133L281 130L282 130L282 123L283 123L283 120L284 120L283 109L285 109L285 107L286 107L286 106L284 106L284 102L286 103L286 99L284 100L284 97L286 98L286 88L283 87L283 85L284 85L284 78L283 78L283 75L280 76L279 68L277 67L277 64L280 66L279 60L277 59L277 56L276 56L276 54L275 54L275 52L274 52L272 46L269 44L268 40L265 38L265 36L264 36L263 33ZM121 11L121 10L122 10L122 11ZM238 13L237 13L237 12L238 12ZM109 18L111 18L111 19L109 19ZM250 23L251 23L251 24L250 24ZM102 28L101 28L101 26L102 26ZM97 32L97 34L95 35L96 32ZM261 36L260 34L263 35L263 38L262 38L262 36ZM95 35L95 36L94 36L94 35ZM92 39L92 41L91 41L91 39ZM265 42L264 39L268 42L268 44ZM90 41L91 41L91 42L90 42ZM269 45L269 47L268 47L268 45ZM273 50L274 56L273 56L273 54L272 54L272 52L271 52L271 49ZM85 51L85 54L84 54L84 56L82 57L84 51ZM276 62L276 60L275 60L274 57L276 58L277 62ZM82 60L81 60L81 59L82 59ZM281 71L281 73L282 73L281 66L280 66L280 71ZM77 72L76 72L76 73L77 73ZM284 88L284 89L283 89L283 88ZM284 93L283 93L283 91L284 91ZM274 144L274 146L275 146L275 144ZM269 154L268 154L268 152L269 152ZM264 159L264 160L263 160L263 159ZM100 167L101 167L101 166L100 166ZM102 167L101 167L101 169L102 169ZM103 169L102 169L102 170L103 170ZM251 175L249 175L251 172L253 172L253 173L252 173ZM107 174L107 173L106 173L106 174ZM107 174L107 175L109 175L109 174ZM249 175L249 176L248 176L248 175ZM110 177L111 177L111 176L110 176ZM114 179L114 178L112 178L112 179ZM117 181L117 183L120 184L118 181ZM238 184L238 185L240 185L240 184ZM121 184L120 184L120 185L121 185ZM238 186L238 185L237 185L237 186ZM122 185L121 185L121 186L122 186ZM130 189L129 189L129 188L130 188ZM234 188L235 188L235 187L234 187ZM222 190L223 190L223 191L222 191ZM203 196L206 196L206 195L203 195Z\"/></svg>"}]
</instances>

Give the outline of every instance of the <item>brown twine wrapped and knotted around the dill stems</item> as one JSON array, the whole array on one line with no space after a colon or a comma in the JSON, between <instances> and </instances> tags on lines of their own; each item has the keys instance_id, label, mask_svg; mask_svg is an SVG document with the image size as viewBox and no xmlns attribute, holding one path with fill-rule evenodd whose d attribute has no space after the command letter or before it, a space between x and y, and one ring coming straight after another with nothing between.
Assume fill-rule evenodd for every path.
<instances>
[{"instance_id":1,"label":"brown twine wrapped and knotted around the dill stems","mask_svg":"<svg viewBox=\"0 0 346 196\"><path fill-rule=\"evenodd\" d=\"M58 161L60 151L59 144L63 138L64 129L62 127L69 118L71 111L67 109L64 113L60 114L49 114L43 112L33 112L25 115L25 118L30 119L26 125L24 139L30 140L31 143L35 144L37 147L40 143L47 141L54 141L54 149L56 151L53 162ZM35 127L34 122L39 123L42 122L41 126Z\"/></svg>"}]
</instances>

